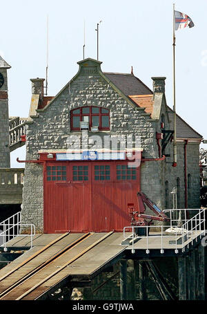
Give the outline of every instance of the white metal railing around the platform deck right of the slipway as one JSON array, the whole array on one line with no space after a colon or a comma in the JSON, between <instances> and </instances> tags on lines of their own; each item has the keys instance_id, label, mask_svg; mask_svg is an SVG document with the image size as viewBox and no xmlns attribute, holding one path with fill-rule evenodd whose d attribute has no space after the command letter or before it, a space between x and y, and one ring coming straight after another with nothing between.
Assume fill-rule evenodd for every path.
<instances>
[{"instance_id":1,"label":"white metal railing around the platform deck right of the slipway","mask_svg":"<svg viewBox=\"0 0 207 314\"><path fill-rule=\"evenodd\" d=\"M179 212L179 214L177 214L176 211ZM170 213L170 225L124 227L124 239L128 238L131 240L130 245L132 245L132 253L135 253L134 245L135 241L137 241L137 237L139 237L139 239L145 239L145 241L142 241L140 248L146 250L147 254L149 254L150 249L154 249L155 246L158 246L161 254L164 253L164 250L169 248L175 248L175 253L177 254L178 250L184 252L186 246L189 248L190 243L193 245L193 241L197 242L198 238L200 237L201 239L202 235L205 234L205 209L165 210L164 212ZM197 212L197 214L191 219L188 219L189 212ZM177 216L179 216L179 218L177 218ZM177 227L180 222L181 225ZM129 235L128 230L132 230L132 234ZM140 234L138 230L145 235L137 236L137 234ZM170 247L166 246L166 240L172 241Z\"/></svg>"}]
</instances>

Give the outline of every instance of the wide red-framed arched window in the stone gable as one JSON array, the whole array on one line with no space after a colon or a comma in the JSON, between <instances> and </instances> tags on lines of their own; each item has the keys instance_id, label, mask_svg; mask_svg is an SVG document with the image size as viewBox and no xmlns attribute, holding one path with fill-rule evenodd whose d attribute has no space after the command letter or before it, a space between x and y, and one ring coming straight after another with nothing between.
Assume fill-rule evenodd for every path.
<instances>
[{"instance_id":1,"label":"wide red-framed arched window in the stone gable","mask_svg":"<svg viewBox=\"0 0 207 314\"><path fill-rule=\"evenodd\" d=\"M80 122L88 122L89 129L98 127L99 130L110 130L110 111L102 107L81 107L70 113L72 131L80 130Z\"/></svg>"}]
</instances>

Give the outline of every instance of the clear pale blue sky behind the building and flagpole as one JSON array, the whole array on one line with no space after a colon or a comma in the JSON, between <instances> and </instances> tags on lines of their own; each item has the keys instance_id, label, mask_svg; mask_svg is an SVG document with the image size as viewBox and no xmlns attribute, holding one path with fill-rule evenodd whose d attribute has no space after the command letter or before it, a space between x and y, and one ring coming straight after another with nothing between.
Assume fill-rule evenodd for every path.
<instances>
[{"instance_id":1,"label":"clear pale blue sky behind the building and flagpole","mask_svg":"<svg viewBox=\"0 0 207 314\"><path fill-rule=\"evenodd\" d=\"M176 32L177 113L207 139L207 1L206 0L7 0L1 1L0 54L12 68L10 116L27 117L30 78L45 77L46 21L49 16L48 95L56 95L77 73L83 59L97 57L102 70L134 74L152 88L152 76L166 76L166 98L172 107L172 3L193 19L194 28ZM3 13L2 13L3 12ZM206 145L205 145L206 147ZM25 158L25 147L12 152Z\"/></svg>"}]
</instances>

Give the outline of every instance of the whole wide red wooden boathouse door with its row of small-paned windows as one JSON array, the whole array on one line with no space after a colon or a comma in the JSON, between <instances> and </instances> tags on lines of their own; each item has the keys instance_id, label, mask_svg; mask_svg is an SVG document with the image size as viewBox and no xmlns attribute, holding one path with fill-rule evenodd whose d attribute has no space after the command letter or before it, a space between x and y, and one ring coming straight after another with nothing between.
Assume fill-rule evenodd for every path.
<instances>
[{"instance_id":1,"label":"whole wide red wooden boathouse door with its row of small-paned windows","mask_svg":"<svg viewBox=\"0 0 207 314\"><path fill-rule=\"evenodd\" d=\"M139 189L139 168L125 161L48 163L44 232L122 231Z\"/></svg>"}]
</instances>

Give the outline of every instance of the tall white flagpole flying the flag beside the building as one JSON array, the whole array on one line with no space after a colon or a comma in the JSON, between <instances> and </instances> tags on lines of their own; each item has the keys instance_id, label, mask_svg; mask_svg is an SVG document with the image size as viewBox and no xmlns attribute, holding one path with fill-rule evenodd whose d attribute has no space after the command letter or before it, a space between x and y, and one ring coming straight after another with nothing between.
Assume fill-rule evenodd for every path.
<instances>
[{"instance_id":1,"label":"tall white flagpole flying the flag beside the building","mask_svg":"<svg viewBox=\"0 0 207 314\"><path fill-rule=\"evenodd\" d=\"M173 163L172 166L177 166L177 133L176 133L176 108L175 108L175 3L173 3L173 32L172 32L172 100L173 100L173 111L174 111L174 120L173 120Z\"/></svg>"}]
</instances>

